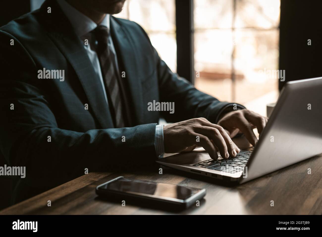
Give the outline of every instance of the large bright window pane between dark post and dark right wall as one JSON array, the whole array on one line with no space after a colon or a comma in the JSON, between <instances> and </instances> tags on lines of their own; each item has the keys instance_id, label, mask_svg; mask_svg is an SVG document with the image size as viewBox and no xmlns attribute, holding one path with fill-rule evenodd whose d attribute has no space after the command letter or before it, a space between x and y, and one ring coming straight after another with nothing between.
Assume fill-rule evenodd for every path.
<instances>
[{"instance_id":1,"label":"large bright window pane between dark post and dark right wall","mask_svg":"<svg viewBox=\"0 0 322 237\"><path fill-rule=\"evenodd\" d=\"M263 105L278 97L278 79L263 72L278 69L279 6L279 0L194 0L196 88L266 115Z\"/></svg>"}]
</instances>

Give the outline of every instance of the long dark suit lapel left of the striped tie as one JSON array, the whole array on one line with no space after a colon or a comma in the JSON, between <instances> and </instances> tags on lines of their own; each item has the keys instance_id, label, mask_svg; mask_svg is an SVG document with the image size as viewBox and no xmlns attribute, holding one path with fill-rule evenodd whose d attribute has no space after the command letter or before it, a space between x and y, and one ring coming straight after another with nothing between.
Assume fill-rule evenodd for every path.
<instances>
[{"instance_id":1,"label":"long dark suit lapel left of the striped tie","mask_svg":"<svg viewBox=\"0 0 322 237\"><path fill-rule=\"evenodd\" d=\"M62 54L75 70L88 99L89 109L99 121L102 128L113 128L113 121L109 107L105 101L104 91L99 76L95 73L92 63L84 49L80 38L74 33L67 17L62 13L56 1L47 0L41 10L47 11L47 5L52 8L52 13L45 13L50 24L51 37ZM50 16L48 16L50 15Z\"/></svg>"}]
</instances>

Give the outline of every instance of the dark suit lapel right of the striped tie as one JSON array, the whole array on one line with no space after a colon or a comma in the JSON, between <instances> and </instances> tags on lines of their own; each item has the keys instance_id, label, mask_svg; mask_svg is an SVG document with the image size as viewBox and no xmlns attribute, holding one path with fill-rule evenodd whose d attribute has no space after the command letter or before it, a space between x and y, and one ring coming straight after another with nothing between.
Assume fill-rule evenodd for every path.
<instances>
[{"instance_id":1,"label":"dark suit lapel right of the striped tie","mask_svg":"<svg viewBox=\"0 0 322 237\"><path fill-rule=\"evenodd\" d=\"M121 79L125 79L129 87L131 98L129 104L133 105L131 111L134 113L134 118L132 117L131 120L134 124L140 124L140 121L143 121L142 86L137 74L135 48L127 31L118 24L117 19L113 16L110 17L110 30L113 44L118 53L118 61L122 62L125 71L125 78Z\"/></svg>"}]
</instances>

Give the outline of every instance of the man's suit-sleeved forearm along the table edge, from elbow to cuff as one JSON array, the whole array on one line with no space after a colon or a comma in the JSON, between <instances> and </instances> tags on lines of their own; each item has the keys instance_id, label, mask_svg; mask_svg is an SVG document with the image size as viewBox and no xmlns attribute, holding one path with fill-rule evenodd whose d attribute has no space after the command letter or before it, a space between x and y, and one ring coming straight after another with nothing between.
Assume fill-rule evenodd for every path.
<instances>
[{"instance_id":1,"label":"man's suit-sleeved forearm along the table edge, from elbow to cuff","mask_svg":"<svg viewBox=\"0 0 322 237\"><path fill-rule=\"evenodd\" d=\"M155 129L155 123L85 133L40 128L13 144L10 151L2 149L10 165L26 167L29 185L57 186L84 174L86 168L93 172L131 161L154 162Z\"/></svg>"}]
</instances>

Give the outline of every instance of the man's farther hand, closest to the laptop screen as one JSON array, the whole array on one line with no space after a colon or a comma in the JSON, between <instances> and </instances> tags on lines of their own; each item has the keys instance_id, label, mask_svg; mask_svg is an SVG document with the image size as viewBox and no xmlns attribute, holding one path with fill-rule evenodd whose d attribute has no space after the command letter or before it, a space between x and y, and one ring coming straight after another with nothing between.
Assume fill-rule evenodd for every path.
<instances>
[{"instance_id":1,"label":"man's farther hand, closest to the laptop screen","mask_svg":"<svg viewBox=\"0 0 322 237\"><path fill-rule=\"evenodd\" d=\"M218 121L218 125L227 130L230 137L233 138L237 133L242 132L252 145L255 145L258 141L253 129L257 128L258 133L260 134L266 123L266 117L247 109L229 112Z\"/></svg>"}]
</instances>

